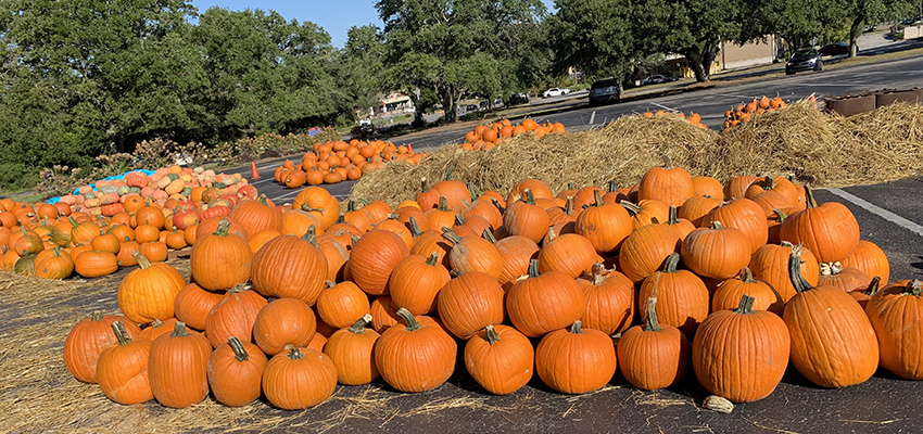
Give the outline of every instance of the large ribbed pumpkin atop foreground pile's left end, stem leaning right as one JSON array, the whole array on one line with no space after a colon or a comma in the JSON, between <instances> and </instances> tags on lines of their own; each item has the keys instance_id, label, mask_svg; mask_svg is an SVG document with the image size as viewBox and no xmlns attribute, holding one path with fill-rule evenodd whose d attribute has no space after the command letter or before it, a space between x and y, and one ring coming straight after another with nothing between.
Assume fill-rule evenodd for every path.
<instances>
[{"instance_id":1,"label":"large ribbed pumpkin atop foreground pile's left end, stem leaning right","mask_svg":"<svg viewBox=\"0 0 923 434\"><path fill-rule=\"evenodd\" d=\"M302 238L282 235L269 240L253 256L253 288L265 296L298 298L314 305L325 288L328 269L327 257L312 241L317 243L313 227Z\"/></svg>"}]
</instances>

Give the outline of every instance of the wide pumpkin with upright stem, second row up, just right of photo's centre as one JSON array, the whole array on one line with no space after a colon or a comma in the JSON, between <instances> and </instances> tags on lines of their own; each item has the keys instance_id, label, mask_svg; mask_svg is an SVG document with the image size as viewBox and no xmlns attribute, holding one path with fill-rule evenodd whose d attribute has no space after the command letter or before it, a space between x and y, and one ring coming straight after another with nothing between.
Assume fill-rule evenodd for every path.
<instances>
[{"instance_id":1,"label":"wide pumpkin with upright stem, second row up, just right of photo's centre","mask_svg":"<svg viewBox=\"0 0 923 434\"><path fill-rule=\"evenodd\" d=\"M586 298L569 275L561 271L540 275L539 260L532 259L528 276L507 293L507 312L517 330L538 337L580 319Z\"/></svg>"}]
</instances>

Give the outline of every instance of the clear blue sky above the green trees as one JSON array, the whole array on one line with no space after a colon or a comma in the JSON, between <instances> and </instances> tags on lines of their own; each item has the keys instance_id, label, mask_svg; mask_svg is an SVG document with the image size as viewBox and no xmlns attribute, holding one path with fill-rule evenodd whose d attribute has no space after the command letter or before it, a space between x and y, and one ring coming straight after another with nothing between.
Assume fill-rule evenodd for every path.
<instances>
[{"instance_id":1,"label":"clear blue sky above the green trees","mask_svg":"<svg viewBox=\"0 0 923 434\"><path fill-rule=\"evenodd\" d=\"M245 9L276 11L286 20L309 21L330 34L333 47L342 48L346 42L346 30L352 26L375 24L382 26L375 10L375 0L191 0L199 13L218 7L231 11ZM551 10L554 0L542 0Z\"/></svg>"}]
</instances>

